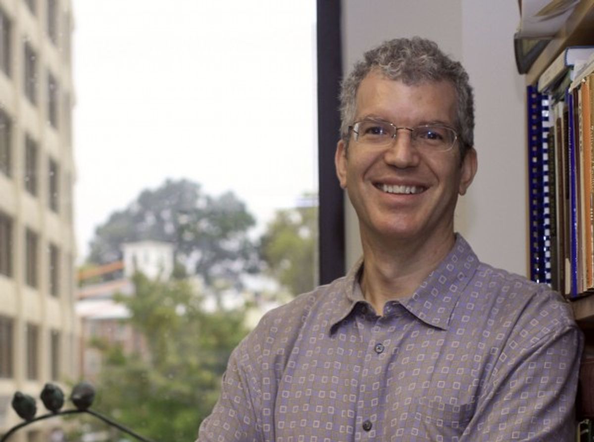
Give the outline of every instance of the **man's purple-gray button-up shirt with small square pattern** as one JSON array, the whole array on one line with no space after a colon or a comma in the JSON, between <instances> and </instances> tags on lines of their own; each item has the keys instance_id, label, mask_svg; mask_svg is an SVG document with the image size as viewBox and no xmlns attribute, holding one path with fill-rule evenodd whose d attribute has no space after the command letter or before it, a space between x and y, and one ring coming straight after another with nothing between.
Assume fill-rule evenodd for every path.
<instances>
[{"instance_id":1,"label":"man's purple-gray button-up shirt with small square pattern","mask_svg":"<svg viewBox=\"0 0 594 442\"><path fill-rule=\"evenodd\" d=\"M570 441L583 336L546 285L460 236L381 316L344 278L267 313L198 441Z\"/></svg>"}]
</instances>

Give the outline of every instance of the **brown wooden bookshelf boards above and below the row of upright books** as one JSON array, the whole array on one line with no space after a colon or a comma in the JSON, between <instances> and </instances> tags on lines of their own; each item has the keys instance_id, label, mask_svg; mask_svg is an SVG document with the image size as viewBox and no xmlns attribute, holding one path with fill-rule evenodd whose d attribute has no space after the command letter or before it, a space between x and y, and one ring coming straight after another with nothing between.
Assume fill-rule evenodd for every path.
<instances>
[{"instance_id":1,"label":"brown wooden bookshelf boards above and below the row of upright books","mask_svg":"<svg viewBox=\"0 0 594 442\"><path fill-rule=\"evenodd\" d=\"M526 84L536 84L546 67L566 46L594 44L594 0L582 0L550 40L526 74ZM594 294L571 301L576 320L583 329L594 329Z\"/></svg>"}]
</instances>

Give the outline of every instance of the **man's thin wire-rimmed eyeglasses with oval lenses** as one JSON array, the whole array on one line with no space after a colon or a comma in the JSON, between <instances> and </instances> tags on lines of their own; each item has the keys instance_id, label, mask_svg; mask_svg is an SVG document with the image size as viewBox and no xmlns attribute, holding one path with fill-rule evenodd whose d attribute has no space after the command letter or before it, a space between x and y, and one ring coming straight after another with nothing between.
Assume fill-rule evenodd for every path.
<instances>
[{"instance_id":1,"label":"man's thin wire-rimmed eyeglasses with oval lenses","mask_svg":"<svg viewBox=\"0 0 594 442\"><path fill-rule=\"evenodd\" d=\"M349 126L349 130L355 133L355 141L377 147L391 145L400 129L410 131L411 144L417 149L426 151L448 151L458 139L458 134L454 129L438 124L406 128L398 127L384 120L366 119Z\"/></svg>"}]
</instances>

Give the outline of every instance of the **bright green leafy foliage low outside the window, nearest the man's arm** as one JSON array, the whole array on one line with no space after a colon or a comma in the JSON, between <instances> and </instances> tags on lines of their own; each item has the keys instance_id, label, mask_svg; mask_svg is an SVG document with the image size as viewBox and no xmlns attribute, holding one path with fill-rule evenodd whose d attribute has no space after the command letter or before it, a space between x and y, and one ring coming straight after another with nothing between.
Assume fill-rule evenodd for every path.
<instances>
[{"instance_id":1,"label":"bright green leafy foliage low outside the window, nearest the man's arm","mask_svg":"<svg viewBox=\"0 0 594 442\"><path fill-rule=\"evenodd\" d=\"M148 352L106 349L95 408L156 441L194 440L219 396L230 352L247 333L242 312L206 313L187 281L136 274L134 284L135 295L118 300Z\"/></svg>"}]
</instances>

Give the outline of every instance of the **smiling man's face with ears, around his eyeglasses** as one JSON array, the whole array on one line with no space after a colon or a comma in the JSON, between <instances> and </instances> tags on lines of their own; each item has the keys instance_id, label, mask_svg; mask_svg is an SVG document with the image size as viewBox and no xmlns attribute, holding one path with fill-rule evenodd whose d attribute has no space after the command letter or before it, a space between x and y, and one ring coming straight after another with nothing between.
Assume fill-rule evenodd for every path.
<instances>
[{"instance_id":1,"label":"smiling man's face with ears, around his eyeglasses","mask_svg":"<svg viewBox=\"0 0 594 442\"><path fill-rule=\"evenodd\" d=\"M356 105L355 120L383 119L408 128L427 123L455 127L456 93L450 82L409 86L371 72L359 85ZM458 142L445 152L419 151L406 130L387 147L360 143L351 134L348 151L339 141L335 161L364 242L369 236L381 241L450 238L457 196L466 192L476 171L475 150L460 163ZM386 192L384 185L395 193Z\"/></svg>"}]
</instances>

